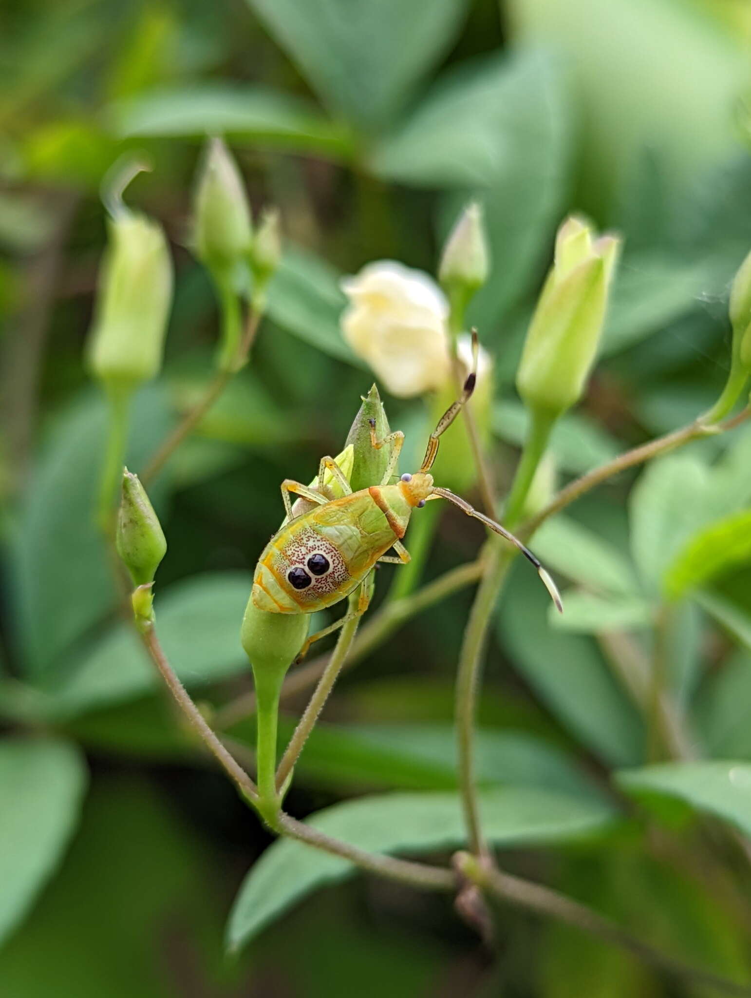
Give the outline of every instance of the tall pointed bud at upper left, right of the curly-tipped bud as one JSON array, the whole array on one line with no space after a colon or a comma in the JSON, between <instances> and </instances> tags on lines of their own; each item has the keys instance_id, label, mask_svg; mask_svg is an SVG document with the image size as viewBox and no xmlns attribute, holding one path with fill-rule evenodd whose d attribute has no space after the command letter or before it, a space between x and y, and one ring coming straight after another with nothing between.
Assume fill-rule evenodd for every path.
<instances>
[{"instance_id":1,"label":"tall pointed bud at upper left, right of the curly-tipped bud","mask_svg":"<svg viewBox=\"0 0 751 998\"><path fill-rule=\"evenodd\" d=\"M209 270L231 273L250 251L252 226L242 178L221 139L211 139L195 189L193 246Z\"/></svg>"}]
</instances>

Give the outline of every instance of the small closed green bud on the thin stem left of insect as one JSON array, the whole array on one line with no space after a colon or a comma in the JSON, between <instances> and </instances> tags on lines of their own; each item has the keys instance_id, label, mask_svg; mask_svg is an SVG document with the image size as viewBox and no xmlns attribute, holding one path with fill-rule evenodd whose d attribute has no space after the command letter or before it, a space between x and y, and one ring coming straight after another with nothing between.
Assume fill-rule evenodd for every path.
<instances>
[{"instance_id":1,"label":"small closed green bud on the thin stem left of insect","mask_svg":"<svg viewBox=\"0 0 751 998\"><path fill-rule=\"evenodd\" d=\"M123 472L123 494L116 536L118 554L135 586L147 586L167 552L167 541L138 475Z\"/></svg>"}]
</instances>

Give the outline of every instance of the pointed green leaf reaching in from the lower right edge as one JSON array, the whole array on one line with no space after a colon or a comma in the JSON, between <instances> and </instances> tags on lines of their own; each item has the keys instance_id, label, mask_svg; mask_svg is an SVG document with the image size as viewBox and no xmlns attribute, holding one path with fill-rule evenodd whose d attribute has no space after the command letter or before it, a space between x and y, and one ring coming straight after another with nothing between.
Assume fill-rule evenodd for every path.
<instances>
[{"instance_id":1,"label":"pointed green leaf reaching in from the lower right edge","mask_svg":"<svg viewBox=\"0 0 751 998\"><path fill-rule=\"evenodd\" d=\"M615 774L621 789L635 796L678 797L707 811L751 838L751 763L727 759L661 762Z\"/></svg>"}]
</instances>

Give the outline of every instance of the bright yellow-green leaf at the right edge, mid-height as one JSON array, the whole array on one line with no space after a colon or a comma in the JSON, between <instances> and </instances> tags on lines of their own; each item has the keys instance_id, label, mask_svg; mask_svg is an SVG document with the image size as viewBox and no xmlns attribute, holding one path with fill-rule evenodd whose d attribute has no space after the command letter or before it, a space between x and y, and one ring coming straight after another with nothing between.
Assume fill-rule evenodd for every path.
<instances>
[{"instance_id":1,"label":"bright yellow-green leaf at the right edge, mid-height","mask_svg":"<svg viewBox=\"0 0 751 998\"><path fill-rule=\"evenodd\" d=\"M689 589L751 560L751 510L733 513L695 534L670 564L663 585L677 600Z\"/></svg>"}]
</instances>

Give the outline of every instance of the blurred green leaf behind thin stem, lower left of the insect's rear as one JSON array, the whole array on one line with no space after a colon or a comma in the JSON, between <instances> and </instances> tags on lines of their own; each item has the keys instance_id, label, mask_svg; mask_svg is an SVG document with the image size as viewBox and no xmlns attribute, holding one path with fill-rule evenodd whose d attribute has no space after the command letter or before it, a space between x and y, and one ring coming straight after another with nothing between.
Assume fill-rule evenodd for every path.
<instances>
[{"instance_id":1,"label":"blurred green leaf behind thin stem, lower left of the insect's rear","mask_svg":"<svg viewBox=\"0 0 751 998\"><path fill-rule=\"evenodd\" d=\"M199 687L247 670L239 643L250 577L206 573L157 590L157 634L178 676ZM76 672L56 681L54 713L72 717L134 700L157 687L159 677L134 628L120 624L84 656Z\"/></svg>"}]
</instances>

